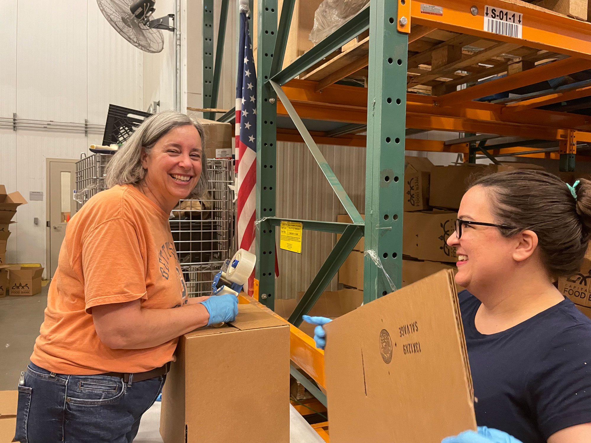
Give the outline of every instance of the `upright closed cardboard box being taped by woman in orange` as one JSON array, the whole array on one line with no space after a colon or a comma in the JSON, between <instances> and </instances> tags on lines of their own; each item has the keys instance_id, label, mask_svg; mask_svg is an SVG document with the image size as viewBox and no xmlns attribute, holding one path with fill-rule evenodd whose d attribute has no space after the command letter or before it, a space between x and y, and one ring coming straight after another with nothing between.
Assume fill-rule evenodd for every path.
<instances>
[{"instance_id":1,"label":"upright closed cardboard box being taped by woman in orange","mask_svg":"<svg viewBox=\"0 0 591 443\"><path fill-rule=\"evenodd\" d=\"M255 305L178 340L162 394L164 443L289 443L290 327Z\"/></svg>"}]
</instances>

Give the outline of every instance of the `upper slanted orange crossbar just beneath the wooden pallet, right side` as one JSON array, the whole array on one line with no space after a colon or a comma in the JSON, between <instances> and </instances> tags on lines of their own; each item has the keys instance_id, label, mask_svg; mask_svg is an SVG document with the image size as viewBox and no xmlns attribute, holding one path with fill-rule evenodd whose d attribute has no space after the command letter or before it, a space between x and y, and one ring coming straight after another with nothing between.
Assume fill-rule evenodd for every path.
<instances>
[{"instance_id":1,"label":"upper slanted orange crossbar just beneath the wooden pallet, right side","mask_svg":"<svg viewBox=\"0 0 591 443\"><path fill-rule=\"evenodd\" d=\"M589 32L591 32L591 29ZM552 63L511 74L510 76L502 77L501 79L491 80L490 82L480 83L475 86L467 87L466 89L450 92L449 94L438 97L434 103L437 103L439 106L452 106L457 103L467 102L518 87L528 86L532 83L544 82L545 80L566 76L585 69L591 69L591 60L564 58L563 60L553 61ZM483 73L483 76L485 76L485 73Z\"/></svg>"}]
</instances>

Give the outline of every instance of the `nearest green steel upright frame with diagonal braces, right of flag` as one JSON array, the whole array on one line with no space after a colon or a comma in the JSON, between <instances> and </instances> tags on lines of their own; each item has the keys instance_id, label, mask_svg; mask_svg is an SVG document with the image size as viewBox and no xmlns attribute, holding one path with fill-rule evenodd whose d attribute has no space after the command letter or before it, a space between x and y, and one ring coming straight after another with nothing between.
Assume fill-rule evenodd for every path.
<instances>
[{"instance_id":1,"label":"nearest green steel upright frame with diagonal braces, right of flag","mask_svg":"<svg viewBox=\"0 0 591 443\"><path fill-rule=\"evenodd\" d=\"M259 301L274 308L275 229L282 220L301 222L303 229L340 233L289 321L301 323L365 234L363 298L372 301L401 285L402 202L406 109L407 34L397 31L397 2L371 0L368 8L322 42L281 69L294 0L285 0L278 22L277 0L258 0L257 183L256 231ZM365 222L324 159L281 86L369 28L368 136L366 150ZM352 219L352 224L287 220L275 217L277 102L281 100L314 159Z\"/></svg>"}]
</instances>

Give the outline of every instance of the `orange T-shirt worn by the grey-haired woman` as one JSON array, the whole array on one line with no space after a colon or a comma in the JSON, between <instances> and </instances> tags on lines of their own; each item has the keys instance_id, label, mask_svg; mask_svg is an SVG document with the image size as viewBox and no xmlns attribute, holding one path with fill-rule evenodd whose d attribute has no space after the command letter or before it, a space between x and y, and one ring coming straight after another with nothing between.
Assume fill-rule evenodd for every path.
<instances>
[{"instance_id":1,"label":"orange T-shirt worn by the grey-haired woman","mask_svg":"<svg viewBox=\"0 0 591 443\"><path fill-rule=\"evenodd\" d=\"M186 293L168 214L132 185L102 191L67 224L31 361L72 375L160 367L172 360L177 338L111 349L96 334L92 307L141 299L143 309L175 308Z\"/></svg>"}]
</instances>

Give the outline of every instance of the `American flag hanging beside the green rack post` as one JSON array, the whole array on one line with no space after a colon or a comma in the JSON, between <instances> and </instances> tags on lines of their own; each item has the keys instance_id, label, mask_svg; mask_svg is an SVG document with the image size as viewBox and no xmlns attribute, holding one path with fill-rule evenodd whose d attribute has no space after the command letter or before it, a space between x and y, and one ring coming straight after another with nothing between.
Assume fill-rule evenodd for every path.
<instances>
[{"instance_id":1,"label":"American flag hanging beside the green rack post","mask_svg":"<svg viewBox=\"0 0 591 443\"><path fill-rule=\"evenodd\" d=\"M256 219L256 72L246 11L240 11L238 45L238 79L236 80L236 170L238 174L238 245L255 253ZM279 275L275 248L275 275ZM252 279L248 292L252 295Z\"/></svg>"}]
</instances>

